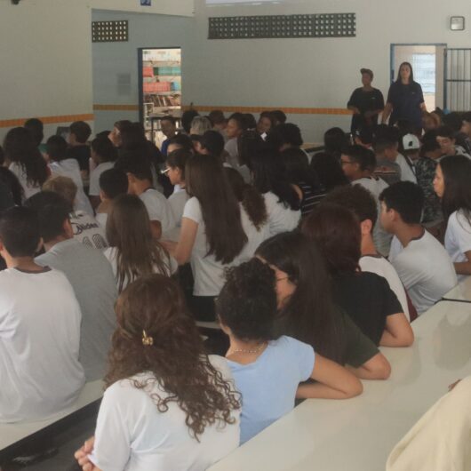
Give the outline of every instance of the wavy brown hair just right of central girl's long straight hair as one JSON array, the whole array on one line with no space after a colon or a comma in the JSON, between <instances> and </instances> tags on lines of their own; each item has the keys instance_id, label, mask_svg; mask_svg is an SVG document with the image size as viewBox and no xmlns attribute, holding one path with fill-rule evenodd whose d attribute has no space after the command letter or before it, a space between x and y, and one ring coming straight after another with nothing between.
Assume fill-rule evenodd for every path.
<instances>
[{"instance_id":1,"label":"wavy brown hair just right of central girl's long straight hair","mask_svg":"<svg viewBox=\"0 0 471 471\"><path fill-rule=\"evenodd\" d=\"M228 182L234 191L235 197L242 203L251 223L259 230L268 219L264 197L257 188L245 183L242 175L235 169L225 168L224 172L228 176Z\"/></svg>"}]
</instances>

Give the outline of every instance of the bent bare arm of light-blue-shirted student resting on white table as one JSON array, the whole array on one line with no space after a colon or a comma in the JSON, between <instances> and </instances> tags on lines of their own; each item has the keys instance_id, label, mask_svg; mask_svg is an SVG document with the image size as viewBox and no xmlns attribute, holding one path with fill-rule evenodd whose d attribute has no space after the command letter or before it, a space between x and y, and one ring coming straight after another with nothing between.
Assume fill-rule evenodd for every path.
<instances>
[{"instance_id":1,"label":"bent bare arm of light-blue-shirted student resting on white table","mask_svg":"<svg viewBox=\"0 0 471 471\"><path fill-rule=\"evenodd\" d=\"M315 355L311 379L318 382L299 385L296 397L347 399L363 391L362 383L353 373L321 355Z\"/></svg>"}]
</instances>

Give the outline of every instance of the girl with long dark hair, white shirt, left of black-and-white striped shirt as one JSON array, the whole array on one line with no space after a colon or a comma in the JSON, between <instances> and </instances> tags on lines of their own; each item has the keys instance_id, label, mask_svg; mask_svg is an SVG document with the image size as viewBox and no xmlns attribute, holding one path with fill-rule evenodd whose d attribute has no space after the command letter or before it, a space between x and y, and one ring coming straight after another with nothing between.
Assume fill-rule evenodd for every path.
<instances>
[{"instance_id":1,"label":"girl with long dark hair, white shirt, left of black-and-white striped shirt","mask_svg":"<svg viewBox=\"0 0 471 471\"><path fill-rule=\"evenodd\" d=\"M253 186L265 197L270 235L296 228L302 193L288 181L281 156L270 148L259 148L249 165Z\"/></svg>"}]
</instances>

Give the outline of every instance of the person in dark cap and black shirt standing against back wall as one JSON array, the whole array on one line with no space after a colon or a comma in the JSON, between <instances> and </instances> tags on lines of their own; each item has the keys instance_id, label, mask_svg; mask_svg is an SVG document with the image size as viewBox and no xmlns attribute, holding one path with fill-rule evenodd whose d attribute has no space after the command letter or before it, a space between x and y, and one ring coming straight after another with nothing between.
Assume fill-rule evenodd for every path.
<instances>
[{"instance_id":1,"label":"person in dark cap and black shirt standing against back wall","mask_svg":"<svg viewBox=\"0 0 471 471\"><path fill-rule=\"evenodd\" d=\"M378 115L384 108L383 94L371 86L372 71L369 68L362 68L360 73L362 74L363 87L356 88L347 103L347 108L354 112L351 125L352 134L364 128L375 128L378 124Z\"/></svg>"}]
</instances>

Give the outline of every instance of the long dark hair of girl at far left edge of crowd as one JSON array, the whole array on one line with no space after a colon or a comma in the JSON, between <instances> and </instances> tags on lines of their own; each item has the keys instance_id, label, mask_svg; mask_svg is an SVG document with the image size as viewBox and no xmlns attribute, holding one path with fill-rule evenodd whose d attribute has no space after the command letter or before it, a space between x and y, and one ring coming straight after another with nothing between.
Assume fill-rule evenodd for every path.
<instances>
[{"instance_id":1,"label":"long dark hair of girl at far left edge of crowd","mask_svg":"<svg viewBox=\"0 0 471 471\"><path fill-rule=\"evenodd\" d=\"M5 159L20 164L29 184L41 187L47 180L47 165L31 133L25 128L13 128L4 139Z\"/></svg>"}]
</instances>

